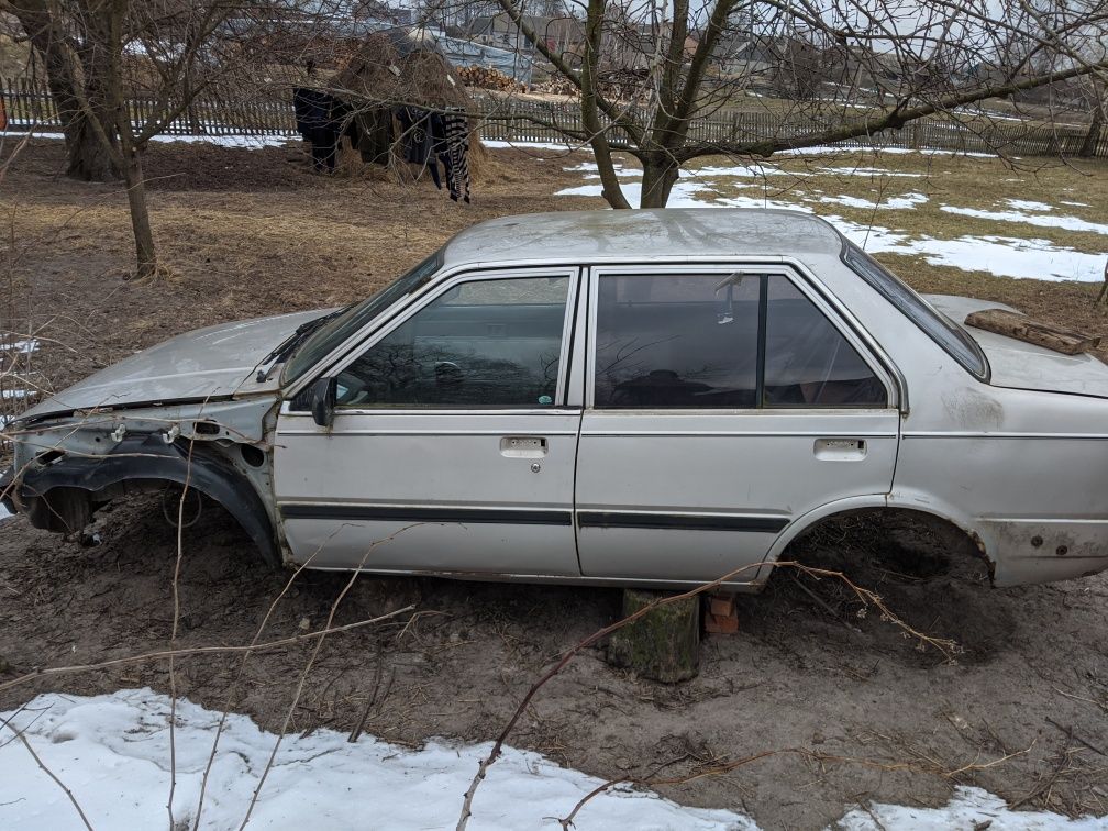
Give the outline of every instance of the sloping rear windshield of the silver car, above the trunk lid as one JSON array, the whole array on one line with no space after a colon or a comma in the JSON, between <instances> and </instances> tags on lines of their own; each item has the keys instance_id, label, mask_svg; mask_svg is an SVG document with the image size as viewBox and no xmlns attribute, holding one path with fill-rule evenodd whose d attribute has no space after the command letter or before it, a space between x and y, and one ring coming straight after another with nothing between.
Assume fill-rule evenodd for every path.
<instances>
[{"instance_id":1,"label":"sloping rear windshield of the silver car, above the trunk lid","mask_svg":"<svg viewBox=\"0 0 1108 831\"><path fill-rule=\"evenodd\" d=\"M851 271L865 280L957 361L960 367L978 381L988 383L992 376L988 358L970 332L937 311L911 286L845 237L840 258Z\"/></svg>"}]
</instances>

